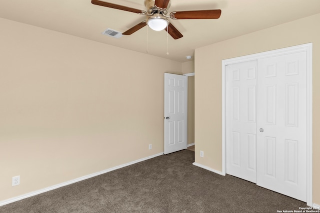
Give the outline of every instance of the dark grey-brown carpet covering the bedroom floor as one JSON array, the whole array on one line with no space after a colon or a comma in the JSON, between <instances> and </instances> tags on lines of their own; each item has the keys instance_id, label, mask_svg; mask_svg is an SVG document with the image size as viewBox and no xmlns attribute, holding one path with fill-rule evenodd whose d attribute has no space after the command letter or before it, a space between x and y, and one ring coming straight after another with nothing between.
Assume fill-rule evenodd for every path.
<instances>
[{"instance_id":1,"label":"dark grey-brown carpet covering the bedroom floor","mask_svg":"<svg viewBox=\"0 0 320 213\"><path fill-rule=\"evenodd\" d=\"M1 213L276 213L306 204L162 155L0 207Z\"/></svg>"}]
</instances>

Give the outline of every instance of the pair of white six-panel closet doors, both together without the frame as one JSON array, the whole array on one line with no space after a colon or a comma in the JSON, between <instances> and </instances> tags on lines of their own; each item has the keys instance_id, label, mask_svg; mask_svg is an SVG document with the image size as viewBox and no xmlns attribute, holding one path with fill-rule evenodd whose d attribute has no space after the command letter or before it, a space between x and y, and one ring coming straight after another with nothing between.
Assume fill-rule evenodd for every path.
<instances>
[{"instance_id":1,"label":"pair of white six-panel closet doors, both together without the frame","mask_svg":"<svg viewBox=\"0 0 320 213\"><path fill-rule=\"evenodd\" d=\"M226 173L306 202L306 52L227 65L225 92Z\"/></svg>"}]
</instances>

